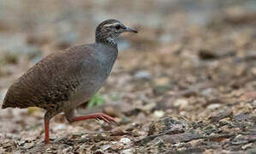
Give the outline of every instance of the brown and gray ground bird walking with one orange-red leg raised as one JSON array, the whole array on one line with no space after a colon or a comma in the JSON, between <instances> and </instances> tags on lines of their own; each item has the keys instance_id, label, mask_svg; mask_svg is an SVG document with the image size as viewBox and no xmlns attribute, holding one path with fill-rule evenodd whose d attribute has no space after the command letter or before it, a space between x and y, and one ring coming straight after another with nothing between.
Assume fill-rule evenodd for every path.
<instances>
[{"instance_id":1,"label":"brown and gray ground bird walking with one orange-red leg raised","mask_svg":"<svg viewBox=\"0 0 256 154\"><path fill-rule=\"evenodd\" d=\"M80 44L44 57L22 74L3 99L2 109L39 107L44 115L45 143L50 144L49 127L53 116L64 112L69 122L96 119L115 122L104 113L76 116L76 107L92 98L111 73L118 56L121 33L137 33L120 21L102 21L95 30L93 44Z\"/></svg>"}]
</instances>

